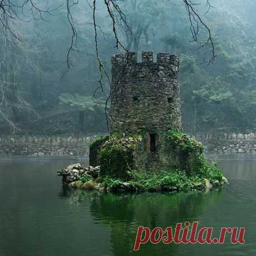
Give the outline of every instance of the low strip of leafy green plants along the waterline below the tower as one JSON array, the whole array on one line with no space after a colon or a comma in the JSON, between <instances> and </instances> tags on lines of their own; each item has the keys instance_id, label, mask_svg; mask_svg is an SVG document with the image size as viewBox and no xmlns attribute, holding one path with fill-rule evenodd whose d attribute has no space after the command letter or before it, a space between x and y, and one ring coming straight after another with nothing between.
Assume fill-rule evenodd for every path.
<instances>
[{"instance_id":1,"label":"low strip of leafy green plants along the waterline below the tower","mask_svg":"<svg viewBox=\"0 0 256 256\"><path fill-rule=\"evenodd\" d=\"M129 180L115 179L106 176L101 179L102 184L110 190L128 189L134 191L187 191L193 189L204 189L205 179L210 183L218 180L223 182L223 175L216 163L206 163L201 173L188 176L185 171L160 171L160 173L140 173L128 171Z\"/></svg>"}]
</instances>

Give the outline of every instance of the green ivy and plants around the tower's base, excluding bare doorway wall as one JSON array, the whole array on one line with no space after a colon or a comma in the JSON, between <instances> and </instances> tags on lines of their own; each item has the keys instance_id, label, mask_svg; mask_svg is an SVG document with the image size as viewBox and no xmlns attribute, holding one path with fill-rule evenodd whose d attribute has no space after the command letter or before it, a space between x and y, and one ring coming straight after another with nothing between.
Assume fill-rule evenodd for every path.
<instances>
[{"instance_id":1,"label":"green ivy and plants around the tower's base, excluding bare doorway wall","mask_svg":"<svg viewBox=\"0 0 256 256\"><path fill-rule=\"evenodd\" d=\"M187 191L204 189L206 184L223 185L225 178L217 163L209 163L203 156L203 145L178 131L169 131L167 139L182 165L159 172L134 170L134 151L143 140L142 135L114 134L100 137L91 146L101 145L100 176L96 179L109 190L131 191ZM189 170L188 170L189 168ZM90 180L85 175L82 181Z\"/></svg>"}]
</instances>

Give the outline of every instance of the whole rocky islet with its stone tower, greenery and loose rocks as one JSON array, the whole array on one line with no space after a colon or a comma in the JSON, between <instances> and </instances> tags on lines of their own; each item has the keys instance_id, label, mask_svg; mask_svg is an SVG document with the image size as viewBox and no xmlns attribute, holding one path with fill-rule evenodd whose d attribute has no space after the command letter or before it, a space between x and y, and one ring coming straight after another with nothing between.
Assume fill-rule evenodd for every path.
<instances>
[{"instance_id":1,"label":"whole rocky islet with its stone tower, greenery and loose rocks","mask_svg":"<svg viewBox=\"0 0 256 256\"><path fill-rule=\"evenodd\" d=\"M181 132L179 59L142 52L112 57L110 135L90 145L90 166L58 171L73 188L181 191L227 184L203 145Z\"/></svg>"}]
</instances>

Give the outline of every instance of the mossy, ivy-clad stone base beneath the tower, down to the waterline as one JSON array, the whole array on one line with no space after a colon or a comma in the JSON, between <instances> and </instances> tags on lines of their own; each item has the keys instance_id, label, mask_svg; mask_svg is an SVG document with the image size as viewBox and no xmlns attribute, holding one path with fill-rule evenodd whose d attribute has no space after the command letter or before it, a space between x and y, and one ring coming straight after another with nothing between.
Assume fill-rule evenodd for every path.
<instances>
[{"instance_id":1,"label":"mossy, ivy-clad stone base beneath the tower, down to the waterline","mask_svg":"<svg viewBox=\"0 0 256 256\"><path fill-rule=\"evenodd\" d=\"M176 131L156 139L159 145L155 151L148 150L146 134L114 134L95 142L93 147L99 150L99 181L109 190L139 191L203 189L216 181L224 184L218 165L204 159L200 142ZM205 179L209 180L208 185Z\"/></svg>"}]
</instances>

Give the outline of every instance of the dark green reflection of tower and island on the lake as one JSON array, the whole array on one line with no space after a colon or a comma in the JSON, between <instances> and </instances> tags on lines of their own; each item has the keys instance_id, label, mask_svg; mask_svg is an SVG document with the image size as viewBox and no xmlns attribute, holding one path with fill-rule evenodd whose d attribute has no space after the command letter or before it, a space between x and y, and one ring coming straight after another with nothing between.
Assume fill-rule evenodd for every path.
<instances>
[{"instance_id":1,"label":"dark green reflection of tower and island on the lake","mask_svg":"<svg viewBox=\"0 0 256 256\"><path fill-rule=\"evenodd\" d=\"M184 221L200 221L210 206L221 200L223 193L194 191L191 193L111 194L63 188L60 196L68 203L81 205L90 202L90 213L96 223L111 227L111 246L114 255L130 255L137 227L174 227ZM175 255L179 245L142 245L139 255Z\"/></svg>"}]
</instances>

